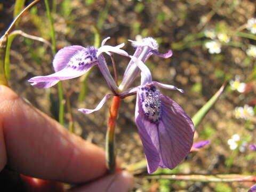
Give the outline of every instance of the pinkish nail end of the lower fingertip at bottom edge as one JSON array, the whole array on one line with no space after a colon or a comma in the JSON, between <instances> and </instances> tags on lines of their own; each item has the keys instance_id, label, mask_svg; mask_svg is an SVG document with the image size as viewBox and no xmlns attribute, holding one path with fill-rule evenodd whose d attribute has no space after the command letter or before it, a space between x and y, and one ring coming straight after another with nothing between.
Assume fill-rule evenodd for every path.
<instances>
[{"instance_id":1,"label":"pinkish nail end of the lower fingertip at bottom edge","mask_svg":"<svg viewBox=\"0 0 256 192\"><path fill-rule=\"evenodd\" d=\"M114 178L110 184L108 192L127 192L133 189L133 175L127 171L122 171Z\"/></svg>"}]
</instances>

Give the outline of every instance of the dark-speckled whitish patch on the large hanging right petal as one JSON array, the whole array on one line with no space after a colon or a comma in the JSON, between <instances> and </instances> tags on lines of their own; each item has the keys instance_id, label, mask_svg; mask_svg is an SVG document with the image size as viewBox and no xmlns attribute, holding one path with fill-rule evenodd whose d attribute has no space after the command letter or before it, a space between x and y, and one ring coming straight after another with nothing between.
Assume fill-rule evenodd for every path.
<instances>
[{"instance_id":1,"label":"dark-speckled whitish patch on the large hanging right petal","mask_svg":"<svg viewBox=\"0 0 256 192\"><path fill-rule=\"evenodd\" d=\"M155 85L141 87L141 103L144 114L152 123L161 117L160 92Z\"/></svg>"}]
</instances>

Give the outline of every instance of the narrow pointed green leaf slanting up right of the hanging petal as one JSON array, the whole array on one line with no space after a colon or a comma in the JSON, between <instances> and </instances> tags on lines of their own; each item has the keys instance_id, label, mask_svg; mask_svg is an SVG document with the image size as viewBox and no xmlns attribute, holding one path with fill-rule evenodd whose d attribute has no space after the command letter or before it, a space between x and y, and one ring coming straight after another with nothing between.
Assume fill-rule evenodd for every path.
<instances>
[{"instance_id":1,"label":"narrow pointed green leaf slanting up right of the hanging petal","mask_svg":"<svg viewBox=\"0 0 256 192\"><path fill-rule=\"evenodd\" d=\"M221 93L225 89L226 82L220 87L220 89L213 95L213 97L205 103L205 105L197 111L197 113L192 117L192 121L195 127L202 122L204 116L208 113L208 111L213 107L214 103L218 100Z\"/></svg>"}]
</instances>

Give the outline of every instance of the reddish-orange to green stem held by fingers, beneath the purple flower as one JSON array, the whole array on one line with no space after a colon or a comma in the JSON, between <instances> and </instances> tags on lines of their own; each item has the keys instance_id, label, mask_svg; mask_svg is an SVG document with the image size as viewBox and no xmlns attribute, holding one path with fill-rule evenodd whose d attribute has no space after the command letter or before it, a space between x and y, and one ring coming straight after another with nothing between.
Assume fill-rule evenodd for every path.
<instances>
[{"instance_id":1,"label":"reddish-orange to green stem held by fingers, beneath the purple flower","mask_svg":"<svg viewBox=\"0 0 256 192\"><path fill-rule=\"evenodd\" d=\"M118 115L121 98L114 96L112 105L109 110L108 129L106 134L106 163L109 173L114 173L116 170L115 156L115 126Z\"/></svg>"}]
</instances>

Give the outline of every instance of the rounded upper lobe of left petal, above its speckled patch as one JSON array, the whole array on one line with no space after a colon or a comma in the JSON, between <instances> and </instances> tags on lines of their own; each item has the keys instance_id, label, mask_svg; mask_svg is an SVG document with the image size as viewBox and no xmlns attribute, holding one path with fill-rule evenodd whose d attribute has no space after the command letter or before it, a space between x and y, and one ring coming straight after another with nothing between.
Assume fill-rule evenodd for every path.
<instances>
[{"instance_id":1,"label":"rounded upper lobe of left petal, above its speckled patch","mask_svg":"<svg viewBox=\"0 0 256 192\"><path fill-rule=\"evenodd\" d=\"M73 45L73 46L66 46L60 49L54 56L53 59L53 68L54 71L60 71L61 69L65 68L69 62L69 59L73 57L73 55L77 51L81 51L86 49L85 47L79 46L79 45Z\"/></svg>"}]
</instances>

